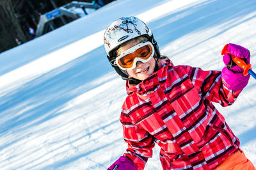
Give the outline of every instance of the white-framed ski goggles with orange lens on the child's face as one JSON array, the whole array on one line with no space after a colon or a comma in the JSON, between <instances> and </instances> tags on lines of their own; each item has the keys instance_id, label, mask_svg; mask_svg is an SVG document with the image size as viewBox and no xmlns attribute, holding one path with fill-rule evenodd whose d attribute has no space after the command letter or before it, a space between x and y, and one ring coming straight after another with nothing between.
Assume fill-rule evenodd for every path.
<instances>
[{"instance_id":1,"label":"white-framed ski goggles with orange lens on the child's face","mask_svg":"<svg viewBox=\"0 0 256 170\"><path fill-rule=\"evenodd\" d=\"M155 50L152 43L141 42L119 54L115 59L115 64L122 70L132 70L138 61L146 63L154 54Z\"/></svg>"}]
</instances>

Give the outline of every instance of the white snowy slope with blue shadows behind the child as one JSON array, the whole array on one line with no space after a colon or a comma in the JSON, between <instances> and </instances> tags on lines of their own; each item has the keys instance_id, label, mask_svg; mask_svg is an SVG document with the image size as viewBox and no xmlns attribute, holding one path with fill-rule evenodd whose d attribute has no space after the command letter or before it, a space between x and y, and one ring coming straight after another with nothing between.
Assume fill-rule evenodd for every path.
<instances>
[{"instance_id":1,"label":"white snowy slope with blue shadows behind the child","mask_svg":"<svg viewBox=\"0 0 256 170\"><path fill-rule=\"evenodd\" d=\"M0 169L107 169L125 152L125 81L102 40L113 20L134 15L147 22L175 65L221 70L229 42L250 49L256 65L255 9L250 0L118 0L2 52ZM256 165L255 86L251 77L234 105L216 107ZM162 169L158 153L156 146L145 169Z\"/></svg>"}]
</instances>

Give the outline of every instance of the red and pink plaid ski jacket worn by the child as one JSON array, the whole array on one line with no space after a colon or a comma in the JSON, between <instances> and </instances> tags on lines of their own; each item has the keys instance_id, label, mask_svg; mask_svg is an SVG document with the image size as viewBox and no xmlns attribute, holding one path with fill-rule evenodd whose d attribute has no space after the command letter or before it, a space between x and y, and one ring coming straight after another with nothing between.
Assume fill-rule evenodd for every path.
<instances>
[{"instance_id":1,"label":"red and pink plaid ski jacket worn by the child","mask_svg":"<svg viewBox=\"0 0 256 170\"><path fill-rule=\"evenodd\" d=\"M120 116L124 156L144 169L157 143L163 169L214 169L240 143L212 102L231 105L240 92L223 86L219 71L173 66L166 59L137 86L127 82Z\"/></svg>"}]
</instances>

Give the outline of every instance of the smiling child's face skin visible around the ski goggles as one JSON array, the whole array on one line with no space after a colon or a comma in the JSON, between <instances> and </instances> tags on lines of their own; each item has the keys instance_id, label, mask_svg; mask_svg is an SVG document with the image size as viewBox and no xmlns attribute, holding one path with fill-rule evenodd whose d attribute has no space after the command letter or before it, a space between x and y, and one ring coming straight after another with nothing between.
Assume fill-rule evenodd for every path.
<instances>
[{"instance_id":1,"label":"smiling child's face skin visible around the ski goggles","mask_svg":"<svg viewBox=\"0 0 256 170\"><path fill-rule=\"evenodd\" d=\"M120 54L125 50L130 49L131 47L133 47L134 45L137 45L138 43L140 43L138 40L131 40L131 42L121 47L118 50L118 53ZM143 81L150 74L154 72L155 66L156 66L156 59L151 58L146 63L142 63L141 61L138 61L135 68L133 68L132 70L127 70L126 72L128 73L129 77Z\"/></svg>"}]
</instances>

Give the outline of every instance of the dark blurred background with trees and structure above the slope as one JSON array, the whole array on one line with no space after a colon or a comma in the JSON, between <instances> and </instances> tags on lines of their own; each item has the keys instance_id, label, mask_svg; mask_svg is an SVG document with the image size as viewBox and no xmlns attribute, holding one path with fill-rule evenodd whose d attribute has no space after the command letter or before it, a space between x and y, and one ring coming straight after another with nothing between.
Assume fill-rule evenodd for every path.
<instances>
[{"instance_id":1,"label":"dark blurred background with trees and structure above the slope","mask_svg":"<svg viewBox=\"0 0 256 170\"><path fill-rule=\"evenodd\" d=\"M1 0L0 53L88 15L113 0Z\"/></svg>"}]
</instances>

